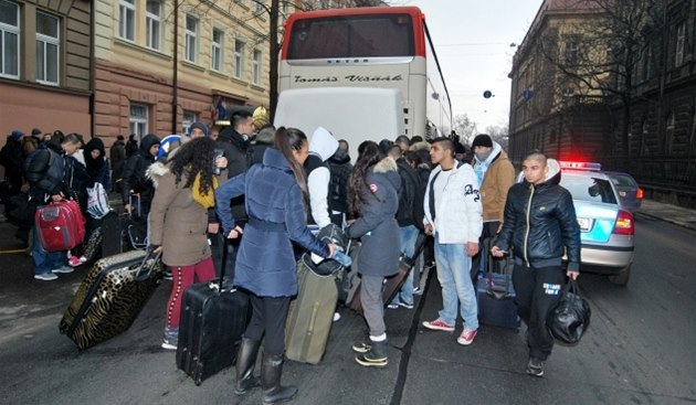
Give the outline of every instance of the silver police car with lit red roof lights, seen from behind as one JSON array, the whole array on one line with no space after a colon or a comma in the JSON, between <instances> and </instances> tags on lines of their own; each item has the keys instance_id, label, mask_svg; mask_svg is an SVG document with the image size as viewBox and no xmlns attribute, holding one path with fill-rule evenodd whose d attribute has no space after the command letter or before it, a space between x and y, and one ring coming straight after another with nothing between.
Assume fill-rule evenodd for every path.
<instances>
[{"instance_id":1,"label":"silver police car with lit red roof lights, seen from behind","mask_svg":"<svg viewBox=\"0 0 696 405\"><path fill-rule=\"evenodd\" d=\"M599 163L560 161L560 185L570 191L580 225L582 271L609 275L616 285L631 277L635 232L612 178Z\"/></svg>"}]
</instances>

